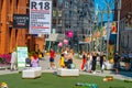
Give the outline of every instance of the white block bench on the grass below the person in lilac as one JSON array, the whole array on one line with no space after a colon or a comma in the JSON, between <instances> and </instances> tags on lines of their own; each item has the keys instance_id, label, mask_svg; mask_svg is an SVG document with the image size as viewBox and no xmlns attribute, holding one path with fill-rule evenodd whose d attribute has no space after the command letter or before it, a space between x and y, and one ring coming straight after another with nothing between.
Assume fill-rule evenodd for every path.
<instances>
[{"instance_id":1,"label":"white block bench on the grass below the person in lilac","mask_svg":"<svg viewBox=\"0 0 132 88\"><path fill-rule=\"evenodd\" d=\"M37 78L41 77L41 75L42 75L41 67L33 67L22 70L22 78Z\"/></svg>"}]
</instances>

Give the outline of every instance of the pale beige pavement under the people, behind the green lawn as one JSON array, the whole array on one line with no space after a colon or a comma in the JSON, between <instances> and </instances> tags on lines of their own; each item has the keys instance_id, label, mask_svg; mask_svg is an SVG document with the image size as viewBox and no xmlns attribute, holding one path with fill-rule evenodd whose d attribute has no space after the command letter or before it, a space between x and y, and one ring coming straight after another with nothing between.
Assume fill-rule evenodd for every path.
<instances>
[{"instance_id":1,"label":"pale beige pavement under the people, behind the green lawn","mask_svg":"<svg viewBox=\"0 0 132 88\"><path fill-rule=\"evenodd\" d=\"M42 67L43 73L53 73L55 72L58 67L59 67L59 55L57 55L55 57L55 65L56 68L55 69L50 69L50 61L48 61L50 56L45 56L44 58L42 58L40 61L40 66ZM74 58L74 63L76 64L76 68L78 68L80 70L80 65L81 65L81 59L77 59ZM14 73L19 73L18 70L15 72L10 72L9 69L1 69L0 70L0 75L4 75L4 74L14 74ZM87 73L87 72L81 72L81 75L95 75L95 76L113 76L117 79L132 79L132 72L120 72L119 75L114 75L113 72L111 70L105 70L103 73L100 73L100 70L97 70L96 74L91 74L91 73Z\"/></svg>"}]
</instances>

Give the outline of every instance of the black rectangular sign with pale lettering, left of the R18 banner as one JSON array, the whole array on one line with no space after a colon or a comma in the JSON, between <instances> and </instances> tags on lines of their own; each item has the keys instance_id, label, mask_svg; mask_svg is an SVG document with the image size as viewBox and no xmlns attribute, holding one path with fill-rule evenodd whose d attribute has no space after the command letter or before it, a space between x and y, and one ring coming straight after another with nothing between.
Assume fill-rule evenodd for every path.
<instances>
[{"instance_id":1,"label":"black rectangular sign with pale lettering, left of the R18 banner","mask_svg":"<svg viewBox=\"0 0 132 88\"><path fill-rule=\"evenodd\" d=\"M28 14L13 14L13 28L29 29L29 19Z\"/></svg>"}]
</instances>

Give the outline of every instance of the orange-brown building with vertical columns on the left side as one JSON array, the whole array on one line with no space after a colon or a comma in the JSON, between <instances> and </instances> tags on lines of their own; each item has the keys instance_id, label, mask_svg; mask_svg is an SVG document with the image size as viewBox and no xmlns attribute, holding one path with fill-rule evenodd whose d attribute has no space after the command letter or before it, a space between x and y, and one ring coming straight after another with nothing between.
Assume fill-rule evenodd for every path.
<instances>
[{"instance_id":1,"label":"orange-brown building with vertical columns on the left side","mask_svg":"<svg viewBox=\"0 0 132 88\"><path fill-rule=\"evenodd\" d=\"M0 54L12 52L16 46L29 51L44 48L44 36L29 34L28 29L13 29L13 14L29 14L29 0L0 0Z\"/></svg>"}]
</instances>

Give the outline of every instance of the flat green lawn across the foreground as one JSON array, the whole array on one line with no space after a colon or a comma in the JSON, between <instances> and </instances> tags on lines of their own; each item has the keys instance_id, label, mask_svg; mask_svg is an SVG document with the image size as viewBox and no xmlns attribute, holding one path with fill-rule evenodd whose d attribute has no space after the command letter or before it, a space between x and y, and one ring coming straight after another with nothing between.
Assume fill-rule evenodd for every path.
<instances>
[{"instance_id":1,"label":"flat green lawn across the foreground","mask_svg":"<svg viewBox=\"0 0 132 88\"><path fill-rule=\"evenodd\" d=\"M132 82L114 79L102 81L102 77L80 75L79 77L58 77L44 73L41 78L22 79L22 74L1 75L0 81L6 81L9 88L73 88L76 82L97 84L98 88L125 87L132 88Z\"/></svg>"}]
</instances>

